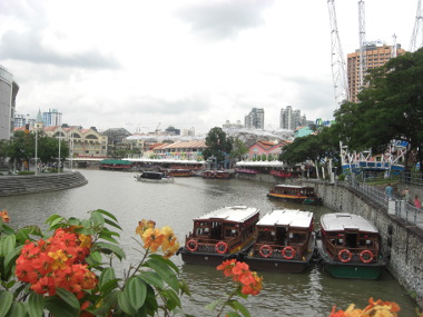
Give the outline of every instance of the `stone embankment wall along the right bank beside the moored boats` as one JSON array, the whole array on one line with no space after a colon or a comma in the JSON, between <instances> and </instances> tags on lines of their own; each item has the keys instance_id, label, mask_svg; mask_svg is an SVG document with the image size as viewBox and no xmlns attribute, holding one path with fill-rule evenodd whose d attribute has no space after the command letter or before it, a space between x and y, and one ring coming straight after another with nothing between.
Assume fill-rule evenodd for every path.
<instances>
[{"instance_id":1,"label":"stone embankment wall along the right bank beside the moored boats","mask_svg":"<svg viewBox=\"0 0 423 317\"><path fill-rule=\"evenodd\" d=\"M325 206L360 215L376 226L382 236L383 255L388 260L387 269L423 308L423 230L388 215L385 208L342 184L303 184L314 186Z\"/></svg>"}]
</instances>

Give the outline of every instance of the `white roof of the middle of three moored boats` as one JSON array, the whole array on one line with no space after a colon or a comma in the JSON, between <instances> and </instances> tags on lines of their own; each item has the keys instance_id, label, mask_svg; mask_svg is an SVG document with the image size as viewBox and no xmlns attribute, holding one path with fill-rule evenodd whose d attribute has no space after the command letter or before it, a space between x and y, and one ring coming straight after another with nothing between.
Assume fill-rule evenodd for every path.
<instances>
[{"instance_id":1,"label":"white roof of the middle of three moored boats","mask_svg":"<svg viewBox=\"0 0 423 317\"><path fill-rule=\"evenodd\" d=\"M281 226L308 228L313 221L313 212L295 209L278 209L263 216L256 226Z\"/></svg>"}]
</instances>

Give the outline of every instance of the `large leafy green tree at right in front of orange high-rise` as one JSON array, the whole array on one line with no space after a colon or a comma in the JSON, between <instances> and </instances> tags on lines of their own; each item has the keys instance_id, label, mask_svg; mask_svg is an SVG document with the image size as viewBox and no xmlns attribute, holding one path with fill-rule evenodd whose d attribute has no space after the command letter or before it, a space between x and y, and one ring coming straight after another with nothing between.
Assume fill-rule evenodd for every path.
<instances>
[{"instance_id":1,"label":"large leafy green tree at right in front of orange high-rise","mask_svg":"<svg viewBox=\"0 0 423 317\"><path fill-rule=\"evenodd\" d=\"M407 142L406 158L423 159L423 49L371 70L358 103L335 111L336 129L350 150L383 153L393 140ZM409 160L406 159L406 168Z\"/></svg>"}]
</instances>

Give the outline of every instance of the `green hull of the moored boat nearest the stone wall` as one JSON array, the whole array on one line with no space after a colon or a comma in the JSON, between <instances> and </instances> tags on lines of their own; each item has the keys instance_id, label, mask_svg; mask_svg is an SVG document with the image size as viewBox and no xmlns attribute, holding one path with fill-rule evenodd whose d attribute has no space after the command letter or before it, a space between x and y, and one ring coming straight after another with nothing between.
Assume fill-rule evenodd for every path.
<instances>
[{"instance_id":1,"label":"green hull of the moored boat nearest the stone wall","mask_svg":"<svg viewBox=\"0 0 423 317\"><path fill-rule=\"evenodd\" d=\"M316 247L323 269L336 278L378 279L386 266L383 260L376 264L335 261L324 250L322 240L317 240Z\"/></svg>"}]
</instances>

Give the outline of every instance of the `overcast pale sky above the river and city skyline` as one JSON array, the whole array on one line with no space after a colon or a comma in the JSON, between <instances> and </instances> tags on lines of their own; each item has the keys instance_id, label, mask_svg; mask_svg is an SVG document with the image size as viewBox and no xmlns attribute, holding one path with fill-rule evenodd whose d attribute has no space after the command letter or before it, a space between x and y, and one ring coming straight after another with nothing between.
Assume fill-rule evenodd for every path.
<instances>
[{"instance_id":1,"label":"overcast pale sky above the river and city skyline","mask_svg":"<svg viewBox=\"0 0 423 317\"><path fill-rule=\"evenodd\" d=\"M346 53L358 1L335 0ZM365 37L410 48L417 0L366 0ZM207 132L252 108L277 129L282 108L333 119L327 0L0 0L0 65L16 112L148 132Z\"/></svg>"}]
</instances>

